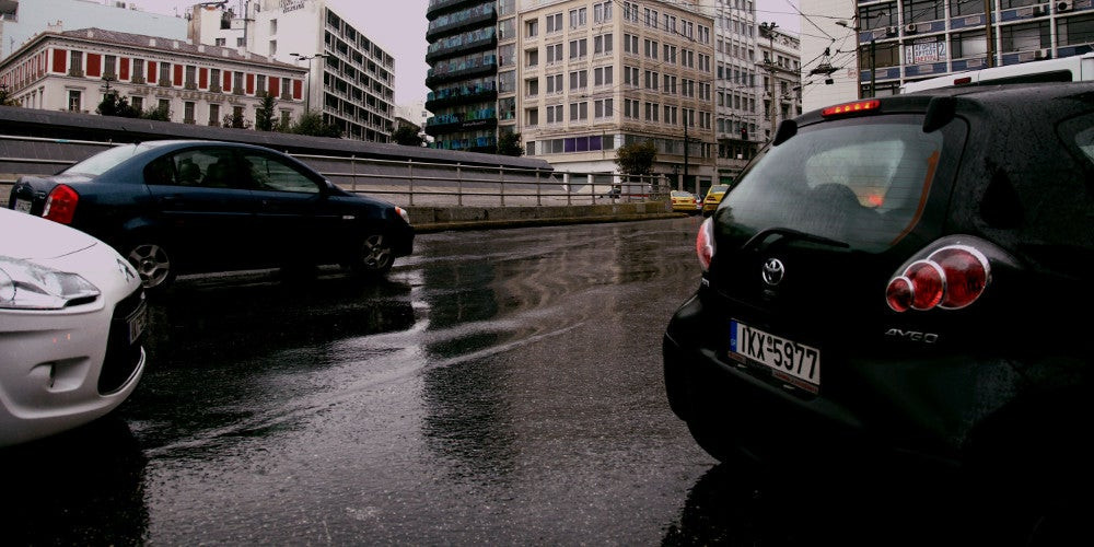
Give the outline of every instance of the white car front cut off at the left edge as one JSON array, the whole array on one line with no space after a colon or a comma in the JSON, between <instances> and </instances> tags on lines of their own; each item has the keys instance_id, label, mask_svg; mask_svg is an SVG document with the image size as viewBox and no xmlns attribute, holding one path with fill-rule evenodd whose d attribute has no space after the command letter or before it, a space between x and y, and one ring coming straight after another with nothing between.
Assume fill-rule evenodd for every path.
<instances>
[{"instance_id":1,"label":"white car front cut off at the left edge","mask_svg":"<svg viewBox=\"0 0 1094 547\"><path fill-rule=\"evenodd\" d=\"M140 276L105 243L0 209L0 446L124 401L144 372Z\"/></svg>"}]
</instances>

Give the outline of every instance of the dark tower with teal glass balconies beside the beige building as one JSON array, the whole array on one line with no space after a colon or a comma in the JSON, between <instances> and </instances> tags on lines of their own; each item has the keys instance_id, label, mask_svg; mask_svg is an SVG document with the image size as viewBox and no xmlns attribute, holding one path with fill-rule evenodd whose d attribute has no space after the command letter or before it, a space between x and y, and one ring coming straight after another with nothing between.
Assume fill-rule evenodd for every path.
<instances>
[{"instance_id":1,"label":"dark tower with teal glass balconies beside the beige building","mask_svg":"<svg viewBox=\"0 0 1094 547\"><path fill-rule=\"evenodd\" d=\"M426 75L430 89L426 108L433 116L426 123L426 132L433 137L433 148L472 152L496 149L498 96L502 91L498 75L502 62L499 39L504 33L508 51L504 93L512 102L515 67L511 28L515 3L515 0L430 0L426 11L429 20L426 61L430 66ZM499 13L508 15L505 26L499 23Z\"/></svg>"}]
</instances>

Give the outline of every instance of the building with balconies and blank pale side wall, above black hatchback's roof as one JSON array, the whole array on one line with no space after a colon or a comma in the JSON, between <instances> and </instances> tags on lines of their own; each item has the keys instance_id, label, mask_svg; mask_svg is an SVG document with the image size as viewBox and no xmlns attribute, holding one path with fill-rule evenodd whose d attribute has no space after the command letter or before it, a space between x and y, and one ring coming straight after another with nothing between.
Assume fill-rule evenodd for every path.
<instances>
[{"instance_id":1,"label":"building with balconies and blank pale side wall, above black hatchback's roof","mask_svg":"<svg viewBox=\"0 0 1094 547\"><path fill-rule=\"evenodd\" d=\"M839 95L824 92L824 78L806 78L805 108L889 95L905 82L951 72L1092 50L1091 0L989 0L988 5L990 25L985 25L985 2L978 0L802 0L803 13L846 13L845 20L813 18L810 24L837 40L850 38L858 53L851 58L833 55L837 70L829 80L842 91ZM803 57L817 58L803 67L805 73L825 60L825 42L803 44ZM848 80L848 68L853 69L853 84L840 85ZM824 91L812 93L811 86Z\"/></svg>"}]
</instances>

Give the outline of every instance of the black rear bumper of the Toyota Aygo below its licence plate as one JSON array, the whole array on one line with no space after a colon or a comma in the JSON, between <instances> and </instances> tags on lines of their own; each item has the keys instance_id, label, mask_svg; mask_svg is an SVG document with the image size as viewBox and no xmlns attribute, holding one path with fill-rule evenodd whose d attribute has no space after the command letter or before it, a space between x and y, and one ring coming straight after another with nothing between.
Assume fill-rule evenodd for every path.
<instances>
[{"instance_id":1,"label":"black rear bumper of the Toyota Aygo below its licence plate","mask_svg":"<svg viewBox=\"0 0 1094 547\"><path fill-rule=\"evenodd\" d=\"M698 296L673 316L662 346L670 405L759 459L896 457L955 467L981 431L1006 430L985 424L1025 414L1010 410L1024 404L1028 386L1017 370L1028 363L969 354L842 358L825 365L839 384L813 396L728 359L712 339L719 316L705 313ZM997 442L986 438L980 445Z\"/></svg>"}]
</instances>

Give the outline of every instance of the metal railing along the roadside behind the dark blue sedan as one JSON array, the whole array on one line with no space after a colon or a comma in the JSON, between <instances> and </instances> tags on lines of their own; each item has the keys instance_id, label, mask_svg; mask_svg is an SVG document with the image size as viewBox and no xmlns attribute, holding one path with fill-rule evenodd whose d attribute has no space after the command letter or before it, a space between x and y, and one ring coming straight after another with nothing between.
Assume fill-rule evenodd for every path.
<instances>
[{"instance_id":1,"label":"metal railing along the roadside behind the dark blue sedan","mask_svg":"<svg viewBox=\"0 0 1094 547\"><path fill-rule=\"evenodd\" d=\"M20 175L49 175L117 146L0 135L0 191ZM667 199L664 175L573 173L414 160L291 154L339 187L406 207L546 207Z\"/></svg>"}]
</instances>

